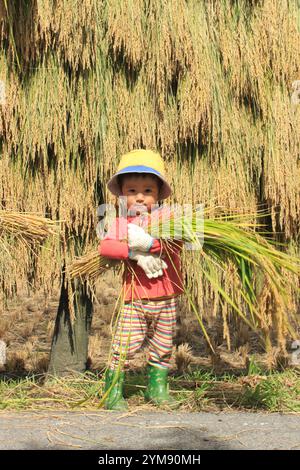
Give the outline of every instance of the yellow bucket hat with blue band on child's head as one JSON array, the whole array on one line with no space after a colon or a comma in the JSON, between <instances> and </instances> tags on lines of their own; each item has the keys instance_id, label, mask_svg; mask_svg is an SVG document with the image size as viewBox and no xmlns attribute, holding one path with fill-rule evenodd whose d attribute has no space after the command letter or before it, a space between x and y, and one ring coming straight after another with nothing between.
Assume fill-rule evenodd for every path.
<instances>
[{"instance_id":1,"label":"yellow bucket hat with blue band on child's head","mask_svg":"<svg viewBox=\"0 0 300 470\"><path fill-rule=\"evenodd\" d=\"M150 173L156 175L162 181L159 199L166 199L172 190L165 180L165 165L159 153L153 150L132 150L122 155L117 173L107 183L107 187L115 196L121 196L121 188L118 184L118 176L126 173Z\"/></svg>"}]
</instances>

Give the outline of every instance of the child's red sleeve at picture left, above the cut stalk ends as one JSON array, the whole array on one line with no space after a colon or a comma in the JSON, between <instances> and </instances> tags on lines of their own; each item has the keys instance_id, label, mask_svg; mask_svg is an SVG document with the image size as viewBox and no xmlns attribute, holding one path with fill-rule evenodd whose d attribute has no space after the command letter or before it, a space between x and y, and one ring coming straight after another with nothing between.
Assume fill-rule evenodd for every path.
<instances>
[{"instance_id":1,"label":"child's red sleeve at picture left, above the cut stalk ends","mask_svg":"<svg viewBox=\"0 0 300 470\"><path fill-rule=\"evenodd\" d=\"M107 235L100 241L98 251L101 256L111 259L128 259L127 221L116 219Z\"/></svg>"}]
</instances>

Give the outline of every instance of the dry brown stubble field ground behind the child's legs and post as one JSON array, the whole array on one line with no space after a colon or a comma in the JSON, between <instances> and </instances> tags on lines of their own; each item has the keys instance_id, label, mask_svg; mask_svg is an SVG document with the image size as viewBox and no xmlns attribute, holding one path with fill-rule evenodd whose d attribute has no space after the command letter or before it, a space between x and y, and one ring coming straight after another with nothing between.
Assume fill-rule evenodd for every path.
<instances>
[{"instance_id":1,"label":"dry brown stubble field ground behind the child's legs and post","mask_svg":"<svg viewBox=\"0 0 300 470\"><path fill-rule=\"evenodd\" d=\"M89 339L89 367L92 370L101 370L106 366L111 344L110 323L120 287L113 272L103 276L96 285ZM6 307L0 307L0 339L7 344L6 371L42 373L47 370L58 302L59 289L50 296L43 292L34 295L20 293ZM220 371L244 370L249 353L254 351L260 356L263 353L255 334L243 324L233 322L230 352L223 339L222 320L212 319L206 326L218 352L214 357L209 353L194 313L188 312L180 301L172 357L173 371L184 372L193 363L208 369L213 366ZM147 350L141 351L132 361L131 368L142 367L146 358Z\"/></svg>"}]
</instances>

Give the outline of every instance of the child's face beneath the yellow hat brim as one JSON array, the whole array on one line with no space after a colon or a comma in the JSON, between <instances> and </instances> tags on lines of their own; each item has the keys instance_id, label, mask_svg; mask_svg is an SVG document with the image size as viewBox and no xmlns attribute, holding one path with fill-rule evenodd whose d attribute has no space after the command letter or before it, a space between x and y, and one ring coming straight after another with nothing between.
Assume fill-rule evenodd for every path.
<instances>
[{"instance_id":1,"label":"child's face beneath the yellow hat brim","mask_svg":"<svg viewBox=\"0 0 300 470\"><path fill-rule=\"evenodd\" d=\"M127 196L127 209L134 209L136 215L140 215L143 211L139 211L139 207L147 208L147 212L151 211L151 205L156 204L159 196L158 183L151 176L126 176L122 181L122 195Z\"/></svg>"}]
</instances>

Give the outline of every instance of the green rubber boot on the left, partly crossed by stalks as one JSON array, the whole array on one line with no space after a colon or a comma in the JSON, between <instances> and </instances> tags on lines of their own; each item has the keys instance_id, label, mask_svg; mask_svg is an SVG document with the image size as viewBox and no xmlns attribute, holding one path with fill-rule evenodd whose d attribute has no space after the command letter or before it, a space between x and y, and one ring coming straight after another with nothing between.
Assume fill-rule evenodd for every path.
<instances>
[{"instance_id":1,"label":"green rubber boot on the left, partly crossed by stalks","mask_svg":"<svg viewBox=\"0 0 300 470\"><path fill-rule=\"evenodd\" d=\"M125 411L128 409L127 402L123 397L124 378L125 372L111 369L106 371L104 393L110 390L104 403L106 410Z\"/></svg>"}]
</instances>

